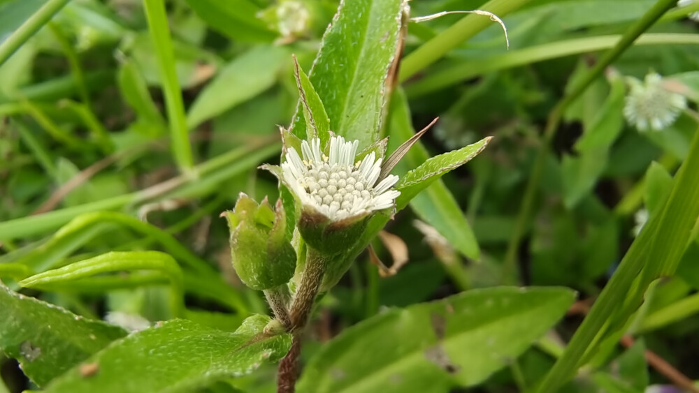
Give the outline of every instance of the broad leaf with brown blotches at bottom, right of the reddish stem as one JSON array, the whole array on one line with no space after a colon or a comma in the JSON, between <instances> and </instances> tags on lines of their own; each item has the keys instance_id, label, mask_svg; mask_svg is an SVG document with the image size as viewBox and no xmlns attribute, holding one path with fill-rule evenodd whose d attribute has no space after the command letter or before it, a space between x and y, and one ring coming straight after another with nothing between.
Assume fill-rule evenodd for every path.
<instances>
[{"instance_id":1,"label":"broad leaf with brown blotches at bottom, right of the reddish stem","mask_svg":"<svg viewBox=\"0 0 699 393\"><path fill-rule=\"evenodd\" d=\"M564 288L499 287L390 309L319 350L298 391L447 392L475 385L523 353L574 299Z\"/></svg>"}]
</instances>

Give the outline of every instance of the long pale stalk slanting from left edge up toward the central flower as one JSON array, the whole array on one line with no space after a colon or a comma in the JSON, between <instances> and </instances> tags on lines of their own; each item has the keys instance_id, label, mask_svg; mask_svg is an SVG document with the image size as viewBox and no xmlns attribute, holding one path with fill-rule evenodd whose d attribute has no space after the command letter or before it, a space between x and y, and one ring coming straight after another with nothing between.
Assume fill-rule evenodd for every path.
<instances>
[{"instance_id":1,"label":"long pale stalk slanting from left edge up toward the central flower","mask_svg":"<svg viewBox=\"0 0 699 393\"><path fill-rule=\"evenodd\" d=\"M250 149L254 149L254 151L251 152ZM197 184L207 181L210 184L225 181L244 170L254 167L254 165L259 164L264 158L272 156L273 154L278 154L279 150L279 142L264 140L261 141L260 144L243 146L240 149L228 151L225 154L197 165L194 170L199 173L199 179L192 179L192 177L180 175L162 184L145 188L135 193L118 195L113 198L89 202L84 205L60 209L37 216L27 216L5 221L0 223L0 240L18 239L20 237L36 235L47 230L55 229L71 221L75 216L84 213L98 212L100 210L116 210L127 205L134 207L143 202L157 200L165 193L178 191L185 188L185 186L188 186L187 193L181 196L186 197L187 195L193 195L198 191L196 189Z\"/></svg>"}]
</instances>

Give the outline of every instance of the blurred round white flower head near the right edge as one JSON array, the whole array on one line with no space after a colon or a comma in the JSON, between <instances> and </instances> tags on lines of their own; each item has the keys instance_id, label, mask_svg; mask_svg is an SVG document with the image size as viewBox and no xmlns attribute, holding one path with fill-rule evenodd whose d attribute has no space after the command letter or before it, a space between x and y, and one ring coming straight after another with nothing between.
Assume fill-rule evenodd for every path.
<instances>
[{"instance_id":1,"label":"blurred round white flower head near the right edge","mask_svg":"<svg viewBox=\"0 0 699 393\"><path fill-rule=\"evenodd\" d=\"M667 128L687 106L684 96L663 87L663 77L657 73L649 73L643 82L629 78L629 84L624 117L638 131Z\"/></svg>"}]
</instances>

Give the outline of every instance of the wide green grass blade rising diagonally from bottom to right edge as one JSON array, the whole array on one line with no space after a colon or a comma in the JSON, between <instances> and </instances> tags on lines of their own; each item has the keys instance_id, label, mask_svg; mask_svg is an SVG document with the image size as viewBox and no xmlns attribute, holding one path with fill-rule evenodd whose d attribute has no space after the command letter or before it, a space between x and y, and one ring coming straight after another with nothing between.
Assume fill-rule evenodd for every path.
<instances>
[{"instance_id":1,"label":"wide green grass blade rising diagonally from bottom to right edge","mask_svg":"<svg viewBox=\"0 0 699 393\"><path fill-rule=\"evenodd\" d=\"M593 350L589 348L590 343L601 341L596 336L614 312L622 304L640 304L645 288L653 279L675 272L699 218L699 171L696 168L699 168L699 133L694 135L689 156L677 172L663 214L652 217L644 226L537 392L556 392L575 373L585 353ZM639 290L631 291L642 269L645 279ZM635 299L628 298L629 292ZM626 316L630 316L629 311L621 310ZM624 321L617 322L623 324Z\"/></svg>"}]
</instances>

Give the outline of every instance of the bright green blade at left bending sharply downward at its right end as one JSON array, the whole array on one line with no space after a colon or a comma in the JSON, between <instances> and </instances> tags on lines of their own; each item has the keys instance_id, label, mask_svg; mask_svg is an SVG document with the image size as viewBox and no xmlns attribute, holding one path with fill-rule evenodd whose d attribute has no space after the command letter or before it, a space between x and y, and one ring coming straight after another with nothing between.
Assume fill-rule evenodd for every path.
<instances>
[{"instance_id":1,"label":"bright green blade at left bending sharply downward at its right end","mask_svg":"<svg viewBox=\"0 0 699 393\"><path fill-rule=\"evenodd\" d=\"M95 274L123 270L156 270L165 274L171 282L173 296L171 306L175 316L182 316L185 309L182 287L182 270L175 260L159 251L111 252L94 258L71 263L59 269L49 270L20 281L25 288L41 288L44 284L69 283Z\"/></svg>"}]
</instances>

